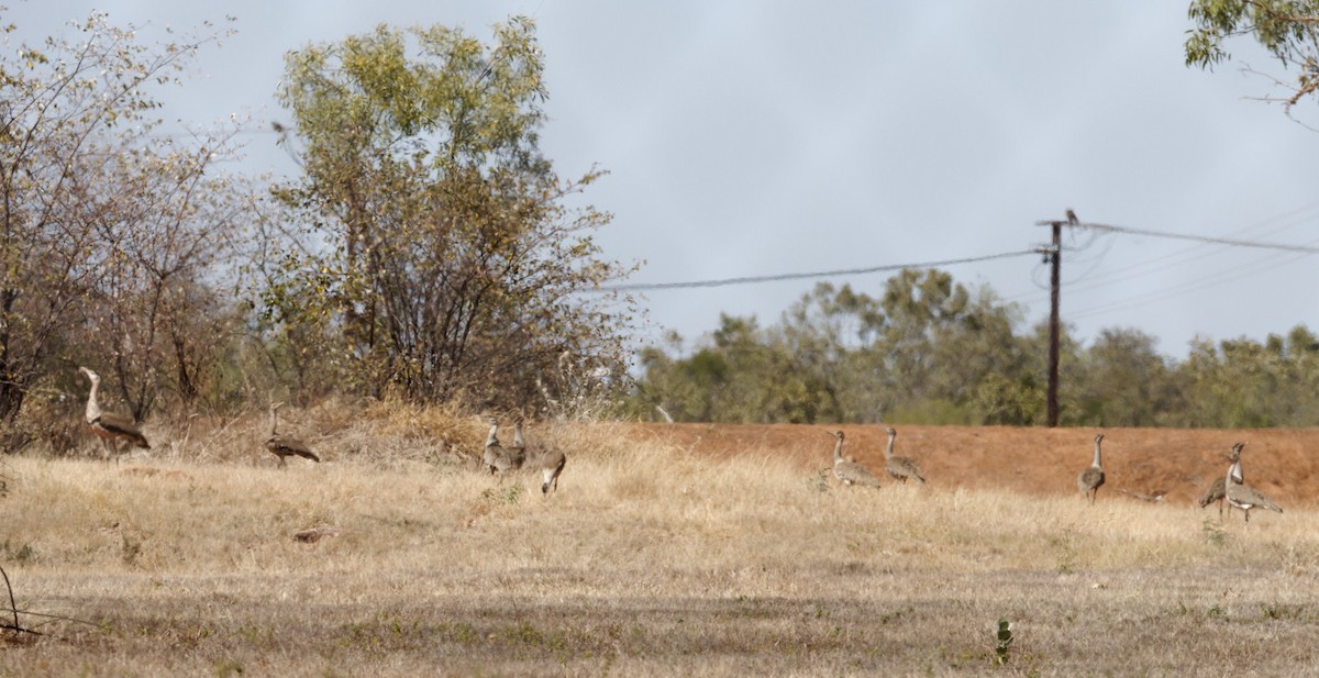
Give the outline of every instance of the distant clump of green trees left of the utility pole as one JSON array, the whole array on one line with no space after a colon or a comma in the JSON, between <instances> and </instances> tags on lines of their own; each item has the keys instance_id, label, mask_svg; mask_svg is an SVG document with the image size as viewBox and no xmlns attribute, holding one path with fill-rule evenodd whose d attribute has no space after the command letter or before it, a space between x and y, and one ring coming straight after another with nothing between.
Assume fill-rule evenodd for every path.
<instances>
[{"instance_id":1,"label":"distant clump of green trees left of the utility pole","mask_svg":"<svg viewBox=\"0 0 1319 678\"><path fill-rule=\"evenodd\" d=\"M689 357L648 350L632 408L679 421L1026 423L1039 389L1000 377L1029 364L1018 315L938 270L904 270L882 298L822 284L774 327L725 315Z\"/></svg>"}]
</instances>

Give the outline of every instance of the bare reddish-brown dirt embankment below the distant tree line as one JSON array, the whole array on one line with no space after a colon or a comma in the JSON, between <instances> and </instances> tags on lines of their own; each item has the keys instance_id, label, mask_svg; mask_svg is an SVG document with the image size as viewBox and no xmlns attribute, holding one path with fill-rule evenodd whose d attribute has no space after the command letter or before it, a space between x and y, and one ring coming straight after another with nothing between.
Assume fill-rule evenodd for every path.
<instances>
[{"instance_id":1,"label":"bare reddish-brown dirt embankment below the distant tree line","mask_svg":"<svg viewBox=\"0 0 1319 678\"><path fill-rule=\"evenodd\" d=\"M847 433L843 454L876 472L884 468L881 425L636 423L628 435L665 441L704 456L773 455L806 468L831 464L834 438ZM915 459L931 487L1008 489L1030 495L1078 493L1076 474L1089 466L1095 434L1104 434L1100 491L1113 497L1166 493L1192 503L1227 471L1223 455L1245 442L1246 484L1282 505L1319 496L1319 429L1043 429L1012 426L894 426L894 451ZM886 479L885 479L886 480ZM1125 491L1125 492L1124 492ZM1134 500L1134 499L1133 499Z\"/></svg>"}]
</instances>

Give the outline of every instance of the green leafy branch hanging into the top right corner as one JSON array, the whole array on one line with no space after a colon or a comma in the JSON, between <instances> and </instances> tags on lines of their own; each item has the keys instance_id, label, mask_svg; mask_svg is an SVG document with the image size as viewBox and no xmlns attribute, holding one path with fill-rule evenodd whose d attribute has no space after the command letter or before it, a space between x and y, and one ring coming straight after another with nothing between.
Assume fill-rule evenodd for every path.
<instances>
[{"instance_id":1,"label":"green leafy branch hanging into the top right corner","mask_svg":"<svg viewBox=\"0 0 1319 678\"><path fill-rule=\"evenodd\" d=\"M1319 1L1316 0L1192 0L1186 38L1186 63L1212 69L1231 58L1225 42L1253 36L1286 69L1295 69L1295 83L1282 99L1287 115L1293 106L1319 91Z\"/></svg>"}]
</instances>

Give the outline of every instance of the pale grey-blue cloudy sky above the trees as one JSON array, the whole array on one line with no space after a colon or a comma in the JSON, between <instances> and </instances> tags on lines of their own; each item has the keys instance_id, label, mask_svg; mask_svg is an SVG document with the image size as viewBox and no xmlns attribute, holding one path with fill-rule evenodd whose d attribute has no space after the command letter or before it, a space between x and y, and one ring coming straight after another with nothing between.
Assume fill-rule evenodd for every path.
<instances>
[{"instance_id":1,"label":"pale grey-blue cloudy sky above the trees","mask_svg":"<svg viewBox=\"0 0 1319 678\"><path fill-rule=\"evenodd\" d=\"M1279 73L1249 42L1207 73L1183 65L1188 0L940 3L9 0L9 47L94 8L160 36L211 20L237 34L195 62L169 113L286 120L282 54L376 24L463 26L481 38L536 18L565 175L611 175L605 253L633 282L919 264L1025 251L1042 219L1319 244L1319 132L1252 100ZM351 5L351 8L340 8ZM1307 104L1307 111L1315 107ZM288 170L252 135L253 170ZM1063 257L1063 318L1089 342L1134 327L1183 357L1195 338L1319 330L1316 257L1083 233ZM1049 313L1038 256L947 266ZM877 294L889 273L834 278ZM653 326L696 339L719 314L773 323L814 281L652 292Z\"/></svg>"}]
</instances>

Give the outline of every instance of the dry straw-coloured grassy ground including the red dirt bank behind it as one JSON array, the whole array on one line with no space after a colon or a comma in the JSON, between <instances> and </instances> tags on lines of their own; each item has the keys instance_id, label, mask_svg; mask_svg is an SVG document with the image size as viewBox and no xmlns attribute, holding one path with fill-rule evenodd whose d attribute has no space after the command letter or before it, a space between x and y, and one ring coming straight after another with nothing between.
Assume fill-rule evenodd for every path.
<instances>
[{"instance_id":1,"label":"dry straw-coloured grassy ground including the red dirt bank behind it","mask_svg":"<svg viewBox=\"0 0 1319 678\"><path fill-rule=\"evenodd\" d=\"M4 458L0 566L42 634L0 636L0 675L1319 673L1314 431L1109 430L1087 507L1080 429L900 427L930 484L878 491L832 481L824 427L532 429L568 451L542 496L476 470L476 419L294 410L324 462L286 470L264 426ZM1286 513L1195 507L1237 439Z\"/></svg>"}]
</instances>

